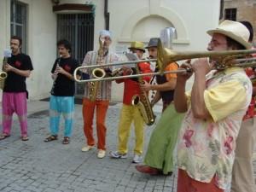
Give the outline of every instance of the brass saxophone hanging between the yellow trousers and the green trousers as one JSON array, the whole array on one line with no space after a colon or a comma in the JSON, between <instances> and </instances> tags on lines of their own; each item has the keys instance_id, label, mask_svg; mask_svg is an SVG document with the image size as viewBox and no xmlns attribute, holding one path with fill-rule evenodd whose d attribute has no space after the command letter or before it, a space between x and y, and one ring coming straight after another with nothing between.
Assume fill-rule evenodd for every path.
<instances>
[{"instance_id":1,"label":"brass saxophone hanging between the yellow trousers and the green trousers","mask_svg":"<svg viewBox=\"0 0 256 192\"><path fill-rule=\"evenodd\" d=\"M139 73L138 65L136 67L136 73ZM139 84L144 84L143 78L139 77L138 82ZM138 106L139 111L142 114L143 119L147 125L154 124L155 116L146 91L141 90L140 95L132 96L131 104L134 106Z\"/></svg>"}]
</instances>

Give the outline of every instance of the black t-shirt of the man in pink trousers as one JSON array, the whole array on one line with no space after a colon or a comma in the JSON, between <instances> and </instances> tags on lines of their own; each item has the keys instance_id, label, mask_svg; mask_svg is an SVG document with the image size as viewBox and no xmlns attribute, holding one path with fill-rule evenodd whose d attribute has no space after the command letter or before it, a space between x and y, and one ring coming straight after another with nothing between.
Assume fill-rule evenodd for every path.
<instances>
[{"instance_id":1,"label":"black t-shirt of the man in pink trousers","mask_svg":"<svg viewBox=\"0 0 256 192\"><path fill-rule=\"evenodd\" d=\"M32 61L29 55L26 54L18 54L12 55L9 57L8 61L9 65L15 67L20 70L33 70ZM8 72L8 76L4 82L4 92L27 92L26 91L26 77L21 76L14 72Z\"/></svg>"}]
</instances>

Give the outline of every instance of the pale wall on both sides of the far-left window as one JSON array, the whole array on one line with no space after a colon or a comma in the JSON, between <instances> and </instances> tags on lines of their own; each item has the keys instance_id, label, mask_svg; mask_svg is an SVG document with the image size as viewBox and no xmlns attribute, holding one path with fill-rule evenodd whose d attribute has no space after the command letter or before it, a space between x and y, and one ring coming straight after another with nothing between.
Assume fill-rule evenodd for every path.
<instances>
[{"instance_id":1,"label":"pale wall on both sides of the far-left window","mask_svg":"<svg viewBox=\"0 0 256 192\"><path fill-rule=\"evenodd\" d=\"M26 79L30 99L49 96L52 84L50 69L55 61L56 17L50 0L20 0L27 4L27 53L34 70ZM10 0L0 1L0 50L9 48ZM3 54L1 54L2 57Z\"/></svg>"}]
</instances>

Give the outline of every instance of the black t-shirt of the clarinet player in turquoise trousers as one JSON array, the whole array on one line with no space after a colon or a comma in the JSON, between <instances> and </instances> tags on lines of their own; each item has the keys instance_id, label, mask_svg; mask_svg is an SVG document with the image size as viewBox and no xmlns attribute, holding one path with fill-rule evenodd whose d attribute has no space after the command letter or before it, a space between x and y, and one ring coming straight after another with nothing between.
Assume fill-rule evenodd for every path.
<instances>
[{"instance_id":1,"label":"black t-shirt of the clarinet player in turquoise trousers","mask_svg":"<svg viewBox=\"0 0 256 192\"><path fill-rule=\"evenodd\" d=\"M57 62L60 58L55 60L55 64L51 69L51 73L55 72L55 68ZM74 60L71 57L61 58L59 66L62 67L67 73L71 73L73 75L74 70L79 67L79 62ZM75 82L72 79L67 78L66 75L58 73L57 79L55 79L53 85L53 91L51 91L51 95L53 96L74 96L75 91Z\"/></svg>"}]
</instances>

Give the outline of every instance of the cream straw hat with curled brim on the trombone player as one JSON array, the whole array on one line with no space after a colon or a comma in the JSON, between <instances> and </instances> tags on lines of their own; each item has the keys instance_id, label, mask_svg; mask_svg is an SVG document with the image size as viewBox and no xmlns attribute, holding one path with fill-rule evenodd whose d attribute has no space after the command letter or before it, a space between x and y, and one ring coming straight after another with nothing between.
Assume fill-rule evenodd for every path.
<instances>
[{"instance_id":1,"label":"cream straw hat with curled brim on the trombone player","mask_svg":"<svg viewBox=\"0 0 256 192\"><path fill-rule=\"evenodd\" d=\"M232 38L246 49L251 49L252 47L252 44L248 43L250 32L247 30L246 26L237 21L224 20L216 29L209 30L207 33L211 36L213 33L220 33Z\"/></svg>"}]
</instances>

